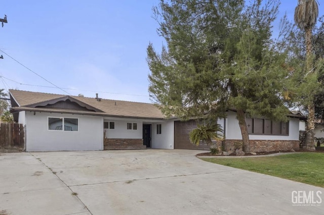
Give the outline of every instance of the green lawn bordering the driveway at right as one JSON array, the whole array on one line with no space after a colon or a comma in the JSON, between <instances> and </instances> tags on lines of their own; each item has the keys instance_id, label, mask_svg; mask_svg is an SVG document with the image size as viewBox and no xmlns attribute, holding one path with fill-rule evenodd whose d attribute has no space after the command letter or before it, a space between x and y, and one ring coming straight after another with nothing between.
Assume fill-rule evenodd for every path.
<instances>
[{"instance_id":1,"label":"green lawn bordering the driveway at right","mask_svg":"<svg viewBox=\"0 0 324 215\"><path fill-rule=\"evenodd\" d=\"M293 153L272 157L201 158L207 162L324 187L324 153Z\"/></svg>"}]
</instances>

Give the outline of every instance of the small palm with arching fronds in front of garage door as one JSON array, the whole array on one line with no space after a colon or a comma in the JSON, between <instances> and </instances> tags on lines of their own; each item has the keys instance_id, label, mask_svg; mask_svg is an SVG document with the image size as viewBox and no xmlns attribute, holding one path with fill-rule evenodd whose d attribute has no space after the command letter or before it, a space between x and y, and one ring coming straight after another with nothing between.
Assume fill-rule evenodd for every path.
<instances>
[{"instance_id":1,"label":"small palm with arching fronds in front of garage door","mask_svg":"<svg viewBox=\"0 0 324 215\"><path fill-rule=\"evenodd\" d=\"M200 140L206 142L208 146L213 144L214 140L223 140L223 129L219 124L207 123L203 125L197 125L197 128L190 132L190 142L199 145Z\"/></svg>"}]
</instances>

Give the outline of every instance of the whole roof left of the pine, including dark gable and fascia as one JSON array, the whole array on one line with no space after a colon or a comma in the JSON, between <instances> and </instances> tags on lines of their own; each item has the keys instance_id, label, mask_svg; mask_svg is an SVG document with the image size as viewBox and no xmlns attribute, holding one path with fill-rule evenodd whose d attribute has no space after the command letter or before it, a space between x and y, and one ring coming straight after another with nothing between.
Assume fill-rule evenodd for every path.
<instances>
[{"instance_id":1,"label":"whole roof left of the pine, including dark gable and fascia","mask_svg":"<svg viewBox=\"0 0 324 215\"><path fill-rule=\"evenodd\" d=\"M98 101L96 98L22 90L9 90L9 93L12 101L12 112L42 111L107 117L165 119L165 115L161 113L156 105L151 103L111 99L99 99ZM82 108L75 109L72 105L71 109L64 109L60 105L54 105L57 102L66 100L77 103Z\"/></svg>"}]
</instances>

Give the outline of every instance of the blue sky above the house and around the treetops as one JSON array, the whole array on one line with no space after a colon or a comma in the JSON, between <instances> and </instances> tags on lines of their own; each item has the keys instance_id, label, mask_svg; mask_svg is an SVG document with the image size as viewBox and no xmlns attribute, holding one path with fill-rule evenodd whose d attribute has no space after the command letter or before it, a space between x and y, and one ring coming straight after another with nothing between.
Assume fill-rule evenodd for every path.
<instances>
[{"instance_id":1,"label":"blue sky above the house and around the treetops","mask_svg":"<svg viewBox=\"0 0 324 215\"><path fill-rule=\"evenodd\" d=\"M152 42L159 50L164 41L152 18L157 4L158 0L2 1L0 17L6 14L8 23L0 28L0 48L55 85L69 88L64 90L71 95L95 97L98 92L107 99L150 102L146 47ZM293 19L296 5L297 0L282 1L279 16L287 12ZM39 87L53 85L1 51L0 55L0 88L66 94Z\"/></svg>"}]
</instances>

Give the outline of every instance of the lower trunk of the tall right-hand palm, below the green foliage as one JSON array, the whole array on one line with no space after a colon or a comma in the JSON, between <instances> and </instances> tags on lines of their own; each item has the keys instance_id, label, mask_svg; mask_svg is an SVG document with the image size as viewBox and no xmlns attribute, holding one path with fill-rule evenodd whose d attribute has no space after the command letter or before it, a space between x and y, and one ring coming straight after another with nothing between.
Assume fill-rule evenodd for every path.
<instances>
[{"instance_id":1,"label":"lower trunk of the tall right-hand palm, below the green foliage","mask_svg":"<svg viewBox=\"0 0 324 215\"><path fill-rule=\"evenodd\" d=\"M314 102L311 101L308 104L306 139L305 139L305 145L303 146L303 149L306 149L308 151L315 151L314 128L315 128L315 106L314 106Z\"/></svg>"}]
</instances>

